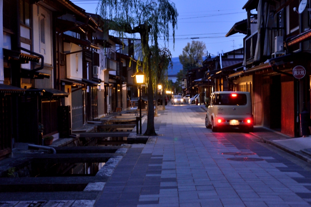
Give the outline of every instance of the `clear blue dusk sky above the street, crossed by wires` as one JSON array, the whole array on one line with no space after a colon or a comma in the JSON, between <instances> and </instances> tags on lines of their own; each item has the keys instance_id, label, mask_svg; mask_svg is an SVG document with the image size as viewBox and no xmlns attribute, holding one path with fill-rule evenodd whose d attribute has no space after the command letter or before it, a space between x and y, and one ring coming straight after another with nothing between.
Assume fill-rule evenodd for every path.
<instances>
[{"instance_id":1,"label":"clear blue dusk sky above the street, crossed by wires","mask_svg":"<svg viewBox=\"0 0 311 207\"><path fill-rule=\"evenodd\" d=\"M95 13L98 1L72 0L72 2L85 9L86 12ZM244 34L238 33L230 37L225 37L225 34L235 22L247 18L246 11L242 10L247 0L173 0L172 2L175 3L179 13L175 49L173 50L172 39L168 45L173 57L178 57L183 47L194 37L199 37L194 40L203 41L208 53L212 55L243 47ZM164 46L163 43L161 45Z\"/></svg>"}]
</instances>

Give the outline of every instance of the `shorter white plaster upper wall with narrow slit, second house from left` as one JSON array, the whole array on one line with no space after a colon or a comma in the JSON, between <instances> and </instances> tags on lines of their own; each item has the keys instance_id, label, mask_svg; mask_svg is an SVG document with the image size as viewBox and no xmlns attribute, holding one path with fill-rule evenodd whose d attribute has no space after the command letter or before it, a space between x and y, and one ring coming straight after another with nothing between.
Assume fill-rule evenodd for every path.
<instances>
[{"instance_id":1,"label":"shorter white plaster upper wall with narrow slit, second house from left","mask_svg":"<svg viewBox=\"0 0 311 207\"><path fill-rule=\"evenodd\" d=\"M64 52L71 53L82 48L73 43L64 43ZM78 56L78 71L76 71L76 55ZM82 52L67 55L67 78L81 80L82 79Z\"/></svg>"}]
</instances>

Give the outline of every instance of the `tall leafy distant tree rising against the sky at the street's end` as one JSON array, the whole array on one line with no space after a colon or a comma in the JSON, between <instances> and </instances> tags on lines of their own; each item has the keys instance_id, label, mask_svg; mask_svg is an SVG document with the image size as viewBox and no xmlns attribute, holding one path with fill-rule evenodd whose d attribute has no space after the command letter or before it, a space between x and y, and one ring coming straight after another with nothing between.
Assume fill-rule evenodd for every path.
<instances>
[{"instance_id":1,"label":"tall leafy distant tree rising against the sky at the street's end","mask_svg":"<svg viewBox=\"0 0 311 207\"><path fill-rule=\"evenodd\" d=\"M183 74L187 70L201 67L206 46L202 41L192 40L191 44L187 43L183 48L182 54L179 55L179 62L183 65Z\"/></svg>"}]
</instances>

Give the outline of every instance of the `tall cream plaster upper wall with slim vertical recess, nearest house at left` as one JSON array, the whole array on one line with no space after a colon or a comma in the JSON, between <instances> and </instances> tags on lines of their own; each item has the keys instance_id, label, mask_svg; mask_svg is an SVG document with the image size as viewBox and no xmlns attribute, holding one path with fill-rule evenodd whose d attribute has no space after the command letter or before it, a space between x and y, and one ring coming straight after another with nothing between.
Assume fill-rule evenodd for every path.
<instances>
[{"instance_id":1,"label":"tall cream plaster upper wall with slim vertical recess, nearest house at left","mask_svg":"<svg viewBox=\"0 0 311 207\"><path fill-rule=\"evenodd\" d=\"M52 14L44 7L33 4L33 51L44 56L44 63L52 65ZM40 41L40 20L44 20L44 42Z\"/></svg>"}]
</instances>

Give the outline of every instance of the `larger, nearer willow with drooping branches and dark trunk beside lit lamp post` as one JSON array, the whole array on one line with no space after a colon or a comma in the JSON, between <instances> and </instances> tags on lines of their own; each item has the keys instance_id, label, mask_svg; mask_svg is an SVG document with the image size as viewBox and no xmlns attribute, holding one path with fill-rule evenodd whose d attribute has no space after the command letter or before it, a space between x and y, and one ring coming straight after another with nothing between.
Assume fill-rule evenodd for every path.
<instances>
[{"instance_id":1,"label":"larger, nearer willow with drooping branches and dark trunk beside lit lamp post","mask_svg":"<svg viewBox=\"0 0 311 207\"><path fill-rule=\"evenodd\" d=\"M151 50L149 43L158 47L158 39L166 44L169 32L177 29L178 12L173 2L169 0L100 0L99 13L109 23L109 29L115 30L120 37L124 34L140 35L142 46L143 71L147 75L148 87L148 117L147 130L144 135L156 135L154 127L154 105L151 71Z\"/></svg>"}]
</instances>

